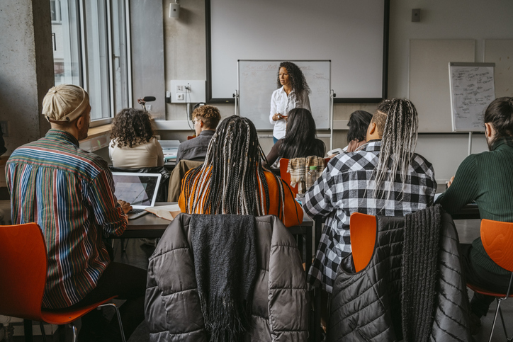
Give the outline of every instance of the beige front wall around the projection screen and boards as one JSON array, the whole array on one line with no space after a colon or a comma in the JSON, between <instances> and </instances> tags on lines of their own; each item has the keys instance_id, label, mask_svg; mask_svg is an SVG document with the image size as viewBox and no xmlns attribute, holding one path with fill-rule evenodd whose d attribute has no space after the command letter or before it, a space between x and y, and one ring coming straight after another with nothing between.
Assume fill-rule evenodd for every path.
<instances>
[{"instance_id":1,"label":"beige front wall around the projection screen and boards","mask_svg":"<svg viewBox=\"0 0 513 342\"><path fill-rule=\"evenodd\" d=\"M167 18L169 1L164 6L164 54L166 84L171 79L206 79L205 1L181 1L179 19ZM412 23L412 8L421 8L421 21ZM476 61L482 61L484 39L513 38L511 0L393 0L390 1L390 44L388 69L389 97L407 98L410 39L475 39ZM357 33L355 33L357 34ZM169 90L169 89L167 89ZM223 117L234 113L233 105L220 105ZM348 120L354 110L373 112L376 105L336 104L334 120ZM168 120L186 120L184 105L167 104ZM269 132L261 132L263 135ZM325 133L325 132L320 132ZM181 139L187 132L165 132ZM323 139L329 144L328 139ZM346 144L344 130L335 130L334 147ZM272 139L261 138L264 151ZM473 152L486 149L483 135L474 135ZM448 180L468 152L467 135L419 135L417 152L432 162L436 179Z\"/></svg>"}]
</instances>

